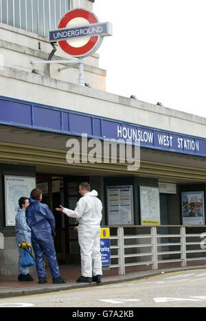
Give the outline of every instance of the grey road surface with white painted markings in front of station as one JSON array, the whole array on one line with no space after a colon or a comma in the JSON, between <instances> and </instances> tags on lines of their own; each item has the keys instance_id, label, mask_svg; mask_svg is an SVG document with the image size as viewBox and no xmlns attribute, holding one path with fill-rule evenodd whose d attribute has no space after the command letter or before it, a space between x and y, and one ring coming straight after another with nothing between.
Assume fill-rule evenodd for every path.
<instances>
[{"instance_id":1,"label":"grey road surface with white painted markings in front of station","mask_svg":"<svg viewBox=\"0 0 206 321\"><path fill-rule=\"evenodd\" d=\"M0 307L86 307L87 311L92 307L113 310L124 307L127 311L134 307L206 307L206 269L170 272L141 280L87 286L52 294L1 299ZM80 313L81 309L76 311Z\"/></svg>"}]
</instances>

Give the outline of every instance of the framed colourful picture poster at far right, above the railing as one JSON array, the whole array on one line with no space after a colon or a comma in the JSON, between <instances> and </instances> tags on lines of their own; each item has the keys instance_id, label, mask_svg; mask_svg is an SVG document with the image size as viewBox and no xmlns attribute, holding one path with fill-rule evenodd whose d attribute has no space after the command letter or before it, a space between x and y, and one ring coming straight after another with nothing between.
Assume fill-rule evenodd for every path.
<instances>
[{"instance_id":1,"label":"framed colourful picture poster at far right, above the railing","mask_svg":"<svg viewBox=\"0 0 206 321\"><path fill-rule=\"evenodd\" d=\"M205 225L204 192L182 192L183 225Z\"/></svg>"}]
</instances>

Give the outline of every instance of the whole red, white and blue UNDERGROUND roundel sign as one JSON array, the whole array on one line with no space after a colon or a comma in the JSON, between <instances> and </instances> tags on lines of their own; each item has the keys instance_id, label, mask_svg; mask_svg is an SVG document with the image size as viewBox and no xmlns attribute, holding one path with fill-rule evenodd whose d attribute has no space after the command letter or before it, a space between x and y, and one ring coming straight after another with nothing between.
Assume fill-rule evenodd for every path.
<instances>
[{"instance_id":1,"label":"whole red, white and blue UNDERGROUND roundel sign","mask_svg":"<svg viewBox=\"0 0 206 321\"><path fill-rule=\"evenodd\" d=\"M104 36L111 35L111 23L100 23L93 12L78 8L62 17L57 30L49 31L49 41L71 56L86 57L98 50Z\"/></svg>"}]
</instances>

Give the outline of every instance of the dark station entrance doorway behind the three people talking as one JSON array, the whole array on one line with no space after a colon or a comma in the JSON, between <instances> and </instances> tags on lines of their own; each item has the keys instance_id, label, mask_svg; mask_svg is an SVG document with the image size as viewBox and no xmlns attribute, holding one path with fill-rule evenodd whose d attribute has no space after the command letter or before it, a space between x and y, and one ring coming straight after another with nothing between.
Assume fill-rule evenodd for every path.
<instances>
[{"instance_id":1,"label":"dark station entrance doorway behind the three people talking","mask_svg":"<svg viewBox=\"0 0 206 321\"><path fill-rule=\"evenodd\" d=\"M76 219L56 212L60 205L75 210L80 199L79 184L89 182L89 177L57 176L38 173L36 186L43 192L43 203L49 206L56 220L56 237L54 239L59 264L80 263L78 232L75 229Z\"/></svg>"}]
</instances>

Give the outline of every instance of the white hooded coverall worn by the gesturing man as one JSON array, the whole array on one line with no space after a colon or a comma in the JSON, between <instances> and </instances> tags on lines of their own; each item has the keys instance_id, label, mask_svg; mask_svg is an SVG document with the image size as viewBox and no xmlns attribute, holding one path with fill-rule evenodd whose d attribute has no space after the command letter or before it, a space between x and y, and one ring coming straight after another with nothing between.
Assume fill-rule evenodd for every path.
<instances>
[{"instance_id":1,"label":"white hooded coverall worn by the gesturing man","mask_svg":"<svg viewBox=\"0 0 206 321\"><path fill-rule=\"evenodd\" d=\"M102 202L98 192L93 190L82 197L75 210L65 208L67 217L78 219L78 241L81 251L82 276L91 278L102 275L102 256L100 253L100 222L102 221Z\"/></svg>"}]
</instances>

